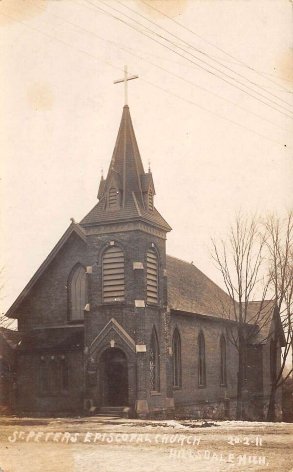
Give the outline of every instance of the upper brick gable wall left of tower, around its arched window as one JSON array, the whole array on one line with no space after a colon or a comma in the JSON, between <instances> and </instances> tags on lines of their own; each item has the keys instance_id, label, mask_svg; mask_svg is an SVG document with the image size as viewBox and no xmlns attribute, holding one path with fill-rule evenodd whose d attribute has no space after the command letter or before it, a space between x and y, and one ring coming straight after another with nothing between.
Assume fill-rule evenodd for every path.
<instances>
[{"instance_id":1,"label":"upper brick gable wall left of tower, around its arched window","mask_svg":"<svg viewBox=\"0 0 293 472\"><path fill-rule=\"evenodd\" d=\"M78 262L86 263L86 245L72 234L25 297L19 309L19 331L68 322L68 277Z\"/></svg>"}]
</instances>

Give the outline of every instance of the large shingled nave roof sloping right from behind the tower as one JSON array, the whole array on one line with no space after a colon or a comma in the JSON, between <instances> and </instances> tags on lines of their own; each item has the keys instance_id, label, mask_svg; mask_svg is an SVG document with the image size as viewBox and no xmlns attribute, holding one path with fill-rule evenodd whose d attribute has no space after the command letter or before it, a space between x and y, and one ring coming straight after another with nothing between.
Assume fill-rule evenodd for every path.
<instances>
[{"instance_id":1,"label":"large shingled nave roof sloping right from behind the tower","mask_svg":"<svg viewBox=\"0 0 293 472\"><path fill-rule=\"evenodd\" d=\"M222 303L231 299L201 270L167 255L168 306L172 310L223 319Z\"/></svg>"}]
</instances>

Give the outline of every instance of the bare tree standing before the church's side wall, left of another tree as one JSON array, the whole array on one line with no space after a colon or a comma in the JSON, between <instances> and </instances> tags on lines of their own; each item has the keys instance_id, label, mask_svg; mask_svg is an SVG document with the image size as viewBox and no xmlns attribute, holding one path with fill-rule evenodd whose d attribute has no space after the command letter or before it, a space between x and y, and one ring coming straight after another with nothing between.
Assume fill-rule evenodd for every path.
<instances>
[{"instance_id":1,"label":"bare tree standing before the church's side wall, left of another tree","mask_svg":"<svg viewBox=\"0 0 293 472\"><path fill-rule=\"evenodd\" d=\"M227 335L238 351L237 420L243 419L247 346L270 320L271 300L266 300L269 281L263 271L266 235L261 229L257 216L245 217L239 213L227 238L212 239L211 256L230 295L227 301L219 291L222 315L234 322L228 324ZM256 294L260 296L251 313L251 302Z\"/></svg>"}]
</instances>

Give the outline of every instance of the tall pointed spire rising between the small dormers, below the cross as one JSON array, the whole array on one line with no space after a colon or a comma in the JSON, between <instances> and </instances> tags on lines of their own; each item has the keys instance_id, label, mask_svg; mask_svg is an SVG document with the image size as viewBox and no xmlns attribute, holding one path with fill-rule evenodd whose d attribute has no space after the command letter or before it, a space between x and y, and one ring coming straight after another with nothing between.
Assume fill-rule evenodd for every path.
<instances>
[{"instance_id":1,"label":"tall pointed spire rising between the small dormers, below the cross","mask_svg":"<svg viewBox=\"0 0 293 472\"><path fill-rule=\"evenodd\" d=\"M129 107L125 105L104 191L108 190L114 175L121 185L122 207L125 206L129 198L132 199L132 192L134 192L137 201L144 205L141 186L141 176L144 173L144 166L134 135Z\"/></svg>"}]
</instances>

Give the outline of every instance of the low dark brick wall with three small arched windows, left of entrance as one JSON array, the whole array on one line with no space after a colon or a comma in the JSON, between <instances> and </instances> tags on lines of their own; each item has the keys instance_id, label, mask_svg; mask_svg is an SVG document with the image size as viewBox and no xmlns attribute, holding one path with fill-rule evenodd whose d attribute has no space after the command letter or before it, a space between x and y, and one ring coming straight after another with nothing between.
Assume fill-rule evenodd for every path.
<instances>
[{"instance_id":1,"label":"low dark brick wall with three small arched windows, left of entrance","mask_svg":"<svg viewBox=\"0 0 293 472\"><path fill-rule=\"evenodd\" d=\"M40 385L40 364L44 361L47 368L50 361L59 362L64 358L68 365L68 390L56 393L42 393ZM49 370L49 368L48 368ZM70 412L83 409L84 375L83 352L22 352L17 361L17 408L18 411L33 411L40 415L49 412ZM48 388L51 379L48 375ZM57 385L58 389L58 385Z\"/></svg>"}]
</instances>

